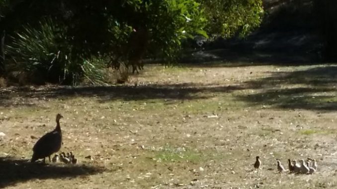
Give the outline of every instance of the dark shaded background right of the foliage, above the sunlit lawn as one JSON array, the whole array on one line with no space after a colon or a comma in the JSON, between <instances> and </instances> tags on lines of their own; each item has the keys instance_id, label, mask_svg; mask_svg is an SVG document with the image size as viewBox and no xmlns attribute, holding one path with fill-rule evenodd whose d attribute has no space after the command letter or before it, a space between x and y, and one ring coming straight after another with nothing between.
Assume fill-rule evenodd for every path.
<instances>
[{"instance_id":1,"label":"dark shaded background right of the foliage, above the sunlit lawn","mask_svg":"<svg viewBox=\"0 0 337 189\"><path fill-rule=\"evenodd\" d=\"M181 63L231 62L250 65L303 65L322 62L314 0L263 0L265 16L246 38L216 39L185 52ZM196 44L203 43L197 40ZM215 64L212 64L215 65Z\"/></svg>"}]
</instances>

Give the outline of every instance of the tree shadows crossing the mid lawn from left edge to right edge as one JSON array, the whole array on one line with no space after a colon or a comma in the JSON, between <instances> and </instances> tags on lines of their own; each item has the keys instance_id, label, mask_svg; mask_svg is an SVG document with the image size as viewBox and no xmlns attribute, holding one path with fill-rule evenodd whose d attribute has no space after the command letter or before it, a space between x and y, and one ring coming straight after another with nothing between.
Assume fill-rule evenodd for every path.
<instances>
[{"instance_id":1,"label":"tree shadows crossing the mid lawn from left edge to right edge","mask_svg":"<svg viewBox=\"0 0 337 189\"><path fill-rule=\"evenodd\" d=\"M52 86L6 88L0 91L0 106L35 106L48 99L93 97L100 103L112 100L195 100L221 93L245 91L236 98L252 106L282 109L337 110L337 65L288 67L289 71L272 71L270 76L238 84L177 83L139 86ZM293 70L295 69L295 71Z\"/></svg>"}]
</instances>

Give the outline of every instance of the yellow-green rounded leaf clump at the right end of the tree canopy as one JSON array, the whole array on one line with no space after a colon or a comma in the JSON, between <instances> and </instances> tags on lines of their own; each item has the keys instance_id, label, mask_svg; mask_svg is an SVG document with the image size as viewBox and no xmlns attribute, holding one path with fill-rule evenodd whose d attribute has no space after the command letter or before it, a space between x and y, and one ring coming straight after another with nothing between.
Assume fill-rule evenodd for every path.
<instances>
[{"instance_id":1,"label":"yellow-green rounded leaf clump at the right end of the tree canopy","mask_svg":"<svg viewBox=\"0 0 337 189\"><path fill-rule=\"evenodd\" d=\"M213 36L225 38L246 36L260 25L262 0L199 0L208 20L206 30Z\"/></svg>"}]
</instances>

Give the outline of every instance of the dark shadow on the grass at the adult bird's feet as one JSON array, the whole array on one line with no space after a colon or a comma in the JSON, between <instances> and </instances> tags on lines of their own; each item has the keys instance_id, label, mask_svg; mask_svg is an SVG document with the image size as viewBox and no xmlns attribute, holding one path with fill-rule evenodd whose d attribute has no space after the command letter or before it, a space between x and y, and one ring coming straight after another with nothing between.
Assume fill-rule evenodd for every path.
<instances>
[{"instance_id":1,"label":"dark shadow on the grass at the adult bird's feet","mask_svg":"<svg viewBox=\"0 0 337 189\"><path fill-rule=\"evenodd\" d=\"M30 163L28 160L15 160L0 157L0 188L33 179L62 179L94 175L103 172L102 168L85 165L53 165Z\"/></svg>"}]
</instances>

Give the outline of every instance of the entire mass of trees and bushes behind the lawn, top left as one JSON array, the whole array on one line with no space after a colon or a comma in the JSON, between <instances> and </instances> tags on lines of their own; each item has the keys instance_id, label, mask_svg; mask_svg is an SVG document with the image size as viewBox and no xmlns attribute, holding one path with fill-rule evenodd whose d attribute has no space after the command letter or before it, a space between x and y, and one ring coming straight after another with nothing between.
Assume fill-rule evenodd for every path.
<instances>
[{"instance_id":1,"label":"entire mass of trees and bushes behind the lawn, top left","mask_svg":"<svg viewBox=\"0 0 337 189\"><path fill-rule=\"evenodd\" d=\"M244 36L262 13L261 0L0 0L0 74L39 84L103 82L106 66L174 61L188 38Z\"/></svg>"}]
</instances>

